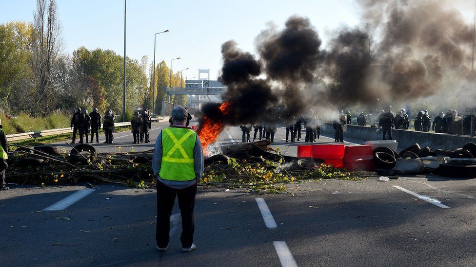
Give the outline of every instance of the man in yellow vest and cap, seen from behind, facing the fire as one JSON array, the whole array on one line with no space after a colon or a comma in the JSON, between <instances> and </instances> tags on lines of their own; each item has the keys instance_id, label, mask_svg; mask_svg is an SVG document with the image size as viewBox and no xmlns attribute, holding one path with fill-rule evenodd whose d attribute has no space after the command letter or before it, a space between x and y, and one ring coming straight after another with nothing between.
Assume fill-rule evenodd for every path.
<instances>
[{"instance_id":1,"label":"man in yellow vest and cap, seen from behind, facing the fire","mask_svg":"<svg viewBox=\"0 0 476 267\"><path fill-rule=\"evenodd\" d=\"M157 249L167 250L170 215L175 196L182 216L182 251L196 248L193 243L194 207L197 181L203 175L203 151L198 135L187 124L188 112L177 106L172 110L172 125L157 137L152 169L157 177Z\"/></svg>"}]
</instances>

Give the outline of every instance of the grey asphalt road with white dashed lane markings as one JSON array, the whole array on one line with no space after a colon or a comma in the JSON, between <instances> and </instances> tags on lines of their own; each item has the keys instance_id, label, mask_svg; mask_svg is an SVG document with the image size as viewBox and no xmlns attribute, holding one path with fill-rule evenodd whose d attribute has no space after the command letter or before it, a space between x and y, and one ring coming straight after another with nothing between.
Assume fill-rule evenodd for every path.
<instances>
[{"instance_id":1,"label":"grey asphalt road with white dashed lane markings","mask_svg":"<svg viewBox=\"0 0 476 267\"><path fill-rule=\"evenodd\" d=\"M97 148L148 150L154 145L131 146L127 134L117 134L116 147ZM295 155L296 145L280 138L283 128L273 146ZM233 127L220 135L219 143L240 139L240 129ZM108 184L11 187L0 192L2 266L476 264L475 179L422 175L386 182L325 180L288 184L288 194L280 195L199 187L197 249L189 253L180 250L177 204L169 250L156 250L155 189Z\"/></svg>"}]
</instances>

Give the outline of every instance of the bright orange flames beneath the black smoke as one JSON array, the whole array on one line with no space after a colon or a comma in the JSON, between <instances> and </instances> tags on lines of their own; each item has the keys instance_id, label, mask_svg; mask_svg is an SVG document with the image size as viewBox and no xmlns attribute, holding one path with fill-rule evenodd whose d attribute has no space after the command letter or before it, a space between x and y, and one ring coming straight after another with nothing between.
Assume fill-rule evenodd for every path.
<instances>
[{"instance_id":1,"label":"bright orange flames beneath the black smoke","mask_svg":"<svg viewBox=\"0 0 476 267\"><path fill-rule=\"evenodd\" d=\"M219 109L223 115L227 115L231 110L231 102L223 102ZM206 116L203 118L202 125L198 131L198 137L200 137L203 147L203 154L207 154L207 146L217 140L218 135L223 131L223 126L223 122L221 121L212 121Z\"/></svg>"}]
</instances>

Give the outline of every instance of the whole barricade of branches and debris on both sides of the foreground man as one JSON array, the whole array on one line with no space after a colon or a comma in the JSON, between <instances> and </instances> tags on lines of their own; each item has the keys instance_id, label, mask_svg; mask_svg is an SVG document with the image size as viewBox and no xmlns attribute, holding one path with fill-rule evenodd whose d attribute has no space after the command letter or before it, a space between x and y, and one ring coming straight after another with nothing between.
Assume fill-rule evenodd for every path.
<instances>
[{"instance_id":1,"label":"whole barricade of branches and debris on both sides of the foreground man","mask_svg":"<svg viewBox=\"0 0 476 267\"><path fill-rule=\"evenodd\" d=\"M136 188L153 186L152 150L145 152L96 153L92 146L77 145L72 153L44 147L16 146L6 170L8 182L57 184L87 181L124 184ZM50 150L52 147L49 147ZM88 150L89 149L89 150ZM331 168L316 159L297 159L274 151L269 142L219 148L225 154L206 157L199 185L242 188L249 192L279 193L283 184L302 180L357 179L343 169Z\"/></svg>"}]
</instances>

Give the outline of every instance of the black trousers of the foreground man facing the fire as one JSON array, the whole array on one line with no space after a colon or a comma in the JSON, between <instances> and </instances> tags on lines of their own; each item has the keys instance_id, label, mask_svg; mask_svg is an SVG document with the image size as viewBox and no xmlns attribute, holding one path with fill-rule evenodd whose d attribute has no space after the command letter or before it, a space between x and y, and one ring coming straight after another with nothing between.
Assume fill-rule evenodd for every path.
<instances>
[{"instance_id":1,"label":"black trousers of the foreground man facing the fire","mask_svg":"<svg viewBox=\"0 0 476 267\"><path fill-rule=\"evenodd\" d=\"M175 196L179 198L180 215L182 216L182 248L190 248L195 232L194 208L197 184L185 189L173 189L165 184L157 183L157 231L156 240L159 248L169 244L170 215L174 207Z\"/></svg>"}]
</instances>

